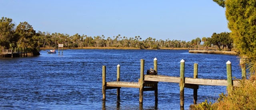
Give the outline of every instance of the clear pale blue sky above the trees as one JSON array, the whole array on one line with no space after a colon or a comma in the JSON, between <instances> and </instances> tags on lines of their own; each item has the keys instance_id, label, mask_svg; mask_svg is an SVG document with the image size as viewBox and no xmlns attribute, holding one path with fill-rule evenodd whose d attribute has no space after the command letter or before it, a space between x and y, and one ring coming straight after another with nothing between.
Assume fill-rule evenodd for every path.
<instances>
[{"instance_id":1,"label":"clear pale blue sky above the trees","mask_svg":"<svg viewBox=\"0 0 256 110\"><path fill-rule=\"evenodd\" d=\"M212 0L0 0L0 17L36 32L191 41L230 32Z\"/></svg>"}]
</instances>

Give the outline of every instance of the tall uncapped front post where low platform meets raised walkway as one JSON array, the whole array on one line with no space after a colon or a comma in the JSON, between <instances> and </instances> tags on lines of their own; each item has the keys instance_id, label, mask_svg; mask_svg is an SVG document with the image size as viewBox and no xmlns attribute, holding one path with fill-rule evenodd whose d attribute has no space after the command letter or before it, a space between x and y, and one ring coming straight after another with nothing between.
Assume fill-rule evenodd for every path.
<instances>
[{"instance_id":1,"label":"tall uncapped front post where low platform meets raised walkway","mask_svg":"<svg viewBox=\"0 0 256 110\"><path fill-rule=\"evenodd\" d=\"M140 104L143 104L144 59L140 60Z\"/></svg>"}]
</instances>

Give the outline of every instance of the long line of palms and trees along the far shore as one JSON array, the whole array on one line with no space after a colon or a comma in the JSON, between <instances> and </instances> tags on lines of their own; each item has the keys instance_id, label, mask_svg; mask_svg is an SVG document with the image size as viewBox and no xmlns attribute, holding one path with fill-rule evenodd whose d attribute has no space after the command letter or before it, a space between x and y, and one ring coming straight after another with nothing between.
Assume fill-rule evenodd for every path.
<instances>
[{"instance_id":1,"label":"long line of palms and trees along the far shore","mask_svg":"<svg viewBox=\"0 0 256 110\"><path fill-rule=\"evenodd\" d=\"M202 44L201 44L202 43ZM78 47L124 47L141 49L161 49L161 48L206 48L216 46L218 50L232 49L232 39L228 32L213 33L211 37L197 37L192 41L181 40L157 40L152 37L142 40L140 36L125 37L116 35L113 37L87 36L87 35L68 35L63 33L48 33L36 31L32 25L26 21L20 22L15 27L12 19L2 17L0 19L0 48L8 49L12 47L30 48L31 51L39 51L41 47L57 48L58 44L64 44L66 48Z\"/></svg>"}]
</instances>

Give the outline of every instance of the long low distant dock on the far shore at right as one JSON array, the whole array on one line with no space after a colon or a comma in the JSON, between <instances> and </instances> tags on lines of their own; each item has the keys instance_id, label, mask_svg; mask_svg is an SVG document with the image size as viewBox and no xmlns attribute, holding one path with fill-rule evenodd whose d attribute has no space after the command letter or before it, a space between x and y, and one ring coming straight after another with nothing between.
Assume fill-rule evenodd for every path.
<instances>
[{"instance_id":1,"label":"long low distant dock on the far shore at right","mask_svg":"<svg viewBox=\"0 0 256 110\"><path fill-rule=\"evenodd\" d=\"M202 53L202 54L229 54L237 55L234 51L206 51L206 50L189 50L189 53Z\"/></svg>"}]
</instances>

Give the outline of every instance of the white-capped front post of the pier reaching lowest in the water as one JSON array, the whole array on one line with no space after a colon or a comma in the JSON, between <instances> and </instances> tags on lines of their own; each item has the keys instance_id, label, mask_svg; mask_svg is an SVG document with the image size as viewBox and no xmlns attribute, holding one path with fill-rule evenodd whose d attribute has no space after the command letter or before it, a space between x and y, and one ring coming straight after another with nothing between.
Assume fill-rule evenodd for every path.
<instances>
[{"instance_id":1,"label":"white-capped front post of the pier reaching lowest in the water","mask_svg":"<svg viewBox=\"0 0 256 110\"><path fill-rule=\"evenodd\" d=\"M185 61L180 61L180 110L184 110Z\"/></svg>"}]
</instances>

